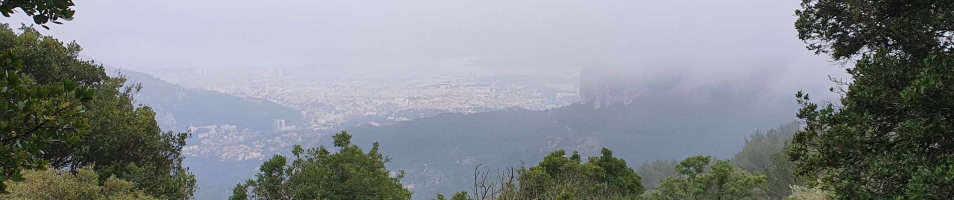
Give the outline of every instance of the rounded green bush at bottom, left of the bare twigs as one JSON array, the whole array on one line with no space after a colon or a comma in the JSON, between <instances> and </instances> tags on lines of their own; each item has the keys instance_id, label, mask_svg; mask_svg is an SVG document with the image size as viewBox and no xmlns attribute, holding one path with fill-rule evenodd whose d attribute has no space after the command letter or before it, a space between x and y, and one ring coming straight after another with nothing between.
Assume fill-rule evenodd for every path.
<instances>
[{"instance_id":1,"label":"rounded green bush at bottom, left of the bare twigs","mask_svg":"<svg viewBox=\"0 0 954 200\"><path fill-rule=\"evenodd\" d=\"M261 164L255 179L239 184L230 200L239 199L410 199L411 192L402 188L404 172L384 168L390 161L378 153L377 142L364 153L351 144L346 132L332 136L337 153L324 146L307 151L296 145L291 163L275 155Z\"/></svg>"}]
</instances>

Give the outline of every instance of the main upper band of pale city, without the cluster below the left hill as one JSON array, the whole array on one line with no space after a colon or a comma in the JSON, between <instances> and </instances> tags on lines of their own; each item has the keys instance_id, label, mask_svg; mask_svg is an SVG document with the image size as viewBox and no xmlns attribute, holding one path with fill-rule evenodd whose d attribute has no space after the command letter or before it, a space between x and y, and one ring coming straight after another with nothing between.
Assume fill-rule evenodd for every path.
<instances>
[{"instance_id":1,"label":"main upper band of pale city, without the cluster below the left hill","mask_svg":"<svg viewBox=\"0 0 954 200\"><path fill-rule=\"evenodd\" d=\"M394 120L427 117L414 112L424 110L546 110L579 100L576 79L530 83L496 80L492 75L341 79L322 77L320 70L282 68L170 68L149 73L187 88L271 100L293 108L308 120L308 124L295 124L300 128L339 126L369 116Z\"/></svg>"}]
</instances>

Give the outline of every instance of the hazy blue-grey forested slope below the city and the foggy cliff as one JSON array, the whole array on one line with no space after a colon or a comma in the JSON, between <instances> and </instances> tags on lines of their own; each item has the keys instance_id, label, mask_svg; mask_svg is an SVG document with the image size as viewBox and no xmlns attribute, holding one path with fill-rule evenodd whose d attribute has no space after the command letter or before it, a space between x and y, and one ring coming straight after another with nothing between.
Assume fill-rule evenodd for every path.
<instances>
[{"instance_id":1,"label":"hazy blue-grey forested slope below the city and the foggy cliff","mask_svg":"<svg viewBox=\"0 0 954 200\"><path fill-rule=\"evenodd\" d=\"M381 142L393 157L388 169L404 170L405 185L415 199L436 192L467 190L473 170L502 170L521 163L535 165L545 155L565 149L598 155L609 148L636 168L643 161L691 155L728 158L745 136L795 119L797 105L766 91L765 82L685 85L664 80L643 88L631 103L592 102L547 111L509 109L477 114L441 114L387 126L351 128L353 142ZM321 138L330 141L329 137Z\"/></svg>"}]
</instances>

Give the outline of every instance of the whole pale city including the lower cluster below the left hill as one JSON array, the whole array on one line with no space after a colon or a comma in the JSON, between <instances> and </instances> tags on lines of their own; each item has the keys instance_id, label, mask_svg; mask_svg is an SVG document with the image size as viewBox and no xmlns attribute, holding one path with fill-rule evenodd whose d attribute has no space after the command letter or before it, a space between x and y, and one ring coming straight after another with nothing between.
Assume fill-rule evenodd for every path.
<instances>
[{"instance_id":1,"label":"whole pale city including the lower cluster below the left hill","mask_svg":"<svg viewBox=\"0 0 954 200\"><path fill-rule=\"evenodd\" d=\"M215 73L156 69L149 73L186 88L270 100L300 111L306 119L293 124L276 118L271 121L272 130L250 130L241 124L190 125L191 145L183 148L183 154L220 161L264 159L302 143L303 136L321 138L322 133L346 123L377 126L439 113L546 110L579 101L576 78L532 82L493 75L339 79L321 77L320 71L280 68Z\"/></svg>"}]
</instances>

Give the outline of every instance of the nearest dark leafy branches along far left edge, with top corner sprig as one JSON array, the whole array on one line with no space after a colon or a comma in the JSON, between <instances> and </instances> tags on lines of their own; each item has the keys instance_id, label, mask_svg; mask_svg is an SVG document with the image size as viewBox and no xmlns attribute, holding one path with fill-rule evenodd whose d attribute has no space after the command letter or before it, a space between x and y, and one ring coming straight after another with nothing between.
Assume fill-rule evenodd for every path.
<instances>
[{"instance_id":1,"label":"nearest dark leafy branches along far left edge, with top corner sprig","mask_svg":"<svg viewBox=\"0 0 954 200\"><path fill-rule=\"evenodd\" d=\"M0 14L10 17L14 9L33 17L33 22L45 28L47 22L62 24L59 19L73 19L72 0L2 0ZM3 30L9 29L0 24ZM7 191L7 180L24 181L23 170L45 170L48 159L40 157L48 146L73 143L89 132L87 118L80 113L80 102L92 100L94 90L77 87L73 80L45 83L23 76L24 61L31 61L30 51L10 49L11 34L0 34L0 191ZM31 65L28 63L28 65ZM73 95L71 99L71 94Z\"/></svg>"}]
</instances>

